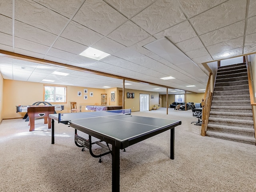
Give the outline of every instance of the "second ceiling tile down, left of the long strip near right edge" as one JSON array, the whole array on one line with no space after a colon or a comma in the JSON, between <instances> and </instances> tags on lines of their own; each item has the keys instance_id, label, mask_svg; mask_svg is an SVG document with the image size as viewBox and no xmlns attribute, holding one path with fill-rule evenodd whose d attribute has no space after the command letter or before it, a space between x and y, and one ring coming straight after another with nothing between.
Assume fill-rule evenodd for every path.
<instances>
[{"instance_id":1,"label":"second ceiling tile down, left of the long strip near right edge","mask_svg":"<svg viewBox=\"0 0 256 192\"><path fill-rule=\"evenodd\" d=\"M224 41L244 36L244 20L220 28L218 30L201 35L200 38L205 46L218 44Z\"/></svg>"}]
</instances>

